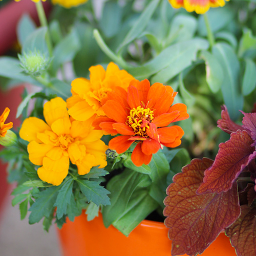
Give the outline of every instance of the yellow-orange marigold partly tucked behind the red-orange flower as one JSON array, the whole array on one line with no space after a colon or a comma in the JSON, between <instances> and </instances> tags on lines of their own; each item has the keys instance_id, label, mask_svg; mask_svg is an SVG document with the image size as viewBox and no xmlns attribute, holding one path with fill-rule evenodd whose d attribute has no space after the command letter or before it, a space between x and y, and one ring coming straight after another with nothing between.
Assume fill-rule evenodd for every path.
<instances>
[{"instance_id":1,"label":"yellow-orange marigold partly tucked behind the red-orange flower","mask_svg":"<svg viewBox=\"0 0 256 256\"><path fill-rule=\"evenodd\" d=\"M76 120L85 121L93 115L102 116L102 105L115 94L127 94L127 88L135 78L110 62L106 71L102 66L90 69L90 80L77 78L71 83L72 95L67 99L69 114Z\"/></svg>"}]
</instances>

